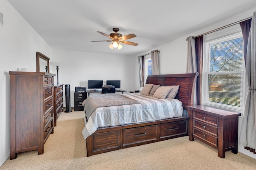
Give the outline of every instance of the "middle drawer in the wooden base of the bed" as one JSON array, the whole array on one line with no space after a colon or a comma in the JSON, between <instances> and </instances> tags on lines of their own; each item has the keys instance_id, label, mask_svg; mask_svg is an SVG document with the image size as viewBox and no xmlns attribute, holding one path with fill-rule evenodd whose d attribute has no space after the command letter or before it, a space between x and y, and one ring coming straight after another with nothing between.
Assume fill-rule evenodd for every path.
<instances>
[{"instance_id":1,"label":"middle drawer in the wooden base of the bed","mask_svg":"<svg viewBox=\"0 0 256 170\"><path fill-rule=\"evenodd\" d=\"M146 127L123 129L123 146L156 140L156 127L157 125L151 125Z\"/></svg>"}]
</instances>

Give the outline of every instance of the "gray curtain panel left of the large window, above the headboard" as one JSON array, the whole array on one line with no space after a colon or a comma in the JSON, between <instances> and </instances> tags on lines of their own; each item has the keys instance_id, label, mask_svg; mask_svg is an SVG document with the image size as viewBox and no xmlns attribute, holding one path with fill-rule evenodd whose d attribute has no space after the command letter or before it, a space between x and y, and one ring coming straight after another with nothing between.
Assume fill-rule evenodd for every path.
<instances>
[{"instance_id":1,"label":"gray curtain panel left of the large window, above the headboard","mask_svg":"<svg viewBox=\"0 0 256 170\"><path fill-rule=\"evenodd\" d=\"M190 36L187 38L187 41L188 41L188 58L187 58L186 73L194 73L194 72L197 72L195 40L192 36Z\"/></svg>"}]
</instances>

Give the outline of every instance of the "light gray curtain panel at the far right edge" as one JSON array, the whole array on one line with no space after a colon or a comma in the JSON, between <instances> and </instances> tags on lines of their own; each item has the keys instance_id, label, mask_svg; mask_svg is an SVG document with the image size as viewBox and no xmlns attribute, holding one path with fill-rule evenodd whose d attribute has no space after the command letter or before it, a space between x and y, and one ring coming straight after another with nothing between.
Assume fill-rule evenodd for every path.
<instances>
[{"instance_id":1,"label":"light gray curtain panel at the far right edge","mask_svg":"<svg viewBox=\"0 0 256 170\"><path fill-rule=\"evenodd\" d=\"M246 55L248 92L244 107L239 144L244 147L256 149L256 12L252 15L252 25L248 37Z\"/></svg>"}]
</instances>

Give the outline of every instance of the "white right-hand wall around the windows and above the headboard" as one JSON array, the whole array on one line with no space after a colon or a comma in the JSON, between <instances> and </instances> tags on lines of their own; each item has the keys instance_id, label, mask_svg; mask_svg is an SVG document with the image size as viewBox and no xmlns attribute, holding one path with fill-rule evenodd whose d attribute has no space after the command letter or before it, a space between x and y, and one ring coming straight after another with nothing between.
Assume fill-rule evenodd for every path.
<instances>
[{"instance_id":1,"label":"white right-hand wall around the windows and above the headboard","mask_svg":"<svg viewBox=\"0 0 256 170\"><path fill-rule=\"evenodd\" d=\"M202 28L196 32L192 32L184 37L180 37L174 41L171 41L169 43L166 43L164 45L161 45L159 47L156 47L154 49L151 49L149 51L145 51L144 53L141 53L139 55L144 55L149 53L152 50L160 50L160 74L178 74L178 73L186 73L186 60L187 60L187 41L186 38L189 36L197 36L204 34L208 31L212 31L214 29L218 29L220 27L229 25L231 23L235 23L240 20L244 20L245 18L252 17L253 12L256 11L256 7L247 10L245 12L242 12L236 16L233 16L231 18L228 18L226 20L223 20L221 22L215 23L213 25L210 25L208 27ZM139 76L138 76L138 59L135 57L134 59L135 63L135 81L134 85L135 88L139 88ZM239 123L238 123L238 137L240 136L240 129L242 124L243 117L239 117ZM238 145L238 152L242 152L243 154L246 154L252 158L256 159L256 154L253 154L252 152L245 150L244 147L241 145Z\"/></svg>"}]
</instances>

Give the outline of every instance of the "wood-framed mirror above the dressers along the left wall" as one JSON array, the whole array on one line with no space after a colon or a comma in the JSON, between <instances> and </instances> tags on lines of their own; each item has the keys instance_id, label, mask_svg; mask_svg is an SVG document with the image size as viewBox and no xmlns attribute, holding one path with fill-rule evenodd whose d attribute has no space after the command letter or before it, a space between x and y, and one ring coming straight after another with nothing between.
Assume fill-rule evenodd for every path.
<instances>
[{"instance_id":1,"label":"wood-framed mirror above the dressers along the left wall","mask_svg":"<svg viewBox=\"0 0 256 170\"><path fill-rule=\"evenodd\" d=\"M49 60L49 57L46 57L40 52L36 52L36 72L49 72Z\"/></svg>"}]
</instances>

